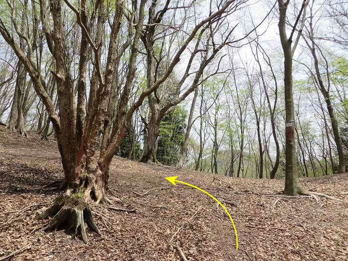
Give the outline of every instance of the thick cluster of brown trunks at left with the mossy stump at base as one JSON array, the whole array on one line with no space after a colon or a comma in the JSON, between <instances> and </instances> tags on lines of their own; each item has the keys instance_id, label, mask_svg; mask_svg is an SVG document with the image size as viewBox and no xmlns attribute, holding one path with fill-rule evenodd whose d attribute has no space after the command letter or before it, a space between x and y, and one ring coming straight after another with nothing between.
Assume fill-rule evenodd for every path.
<instances>
[{"instance_id":1,"label":"thick cluster of brown trunks at left with the mossy stump at base","mask_svg":"<svg viewBox=\"0 0 348 261\"><path fill-rule=\"evenodd\" d=\"M25 0L24 2L26 5L27 1ZM104 65L104 63L101 63L100 53L101 50L104 49L102 39L104 38L105 32L104 24L106 22L106 8L104 1L98 1L95 6L93 6L92 4L91 7L94 10L94 13L98 16L98 21L96 25L95 20L90 21L90 24L93 26L93 28L94 26L96 27L97 33L93 34L93 39L90 39L89 37L88 39L89 45L91 47L90 49L92 49L94 54L94 60L92 64L93 71L95 70L95 73L92 74L91 83L89 85L90 93L87 107L88 112L87 120L85 122L83 122L83 94L86 85L85 83L79 83L81 88L78 87L79 104L77 106L77 112L75 106L76 93L73 86L73 77L71 75L71 68L73 66L72 63L75 63L74 58L71 57L71 54L74 53L75 50L68 50L71 45L68 45L66 43L67 32L65 30L67 29L67 27L64 25L64 19L66 19L66 16L64 15L64 6L65 4L67 4L71 9L74 10L74 12L76 12L77 23L82 28L82 33L87 34L87 27L89 23L85 19L87 17L84 18L88 10L86 7L86 1L82 0L81 6L77 8L73 6L69 1L65 1L65 4L63 6L63 2L60 0L50 0L49 8L45 0L40 0L39 2L40 17L42 20L41 28L46 35L46 42L55 62L54 70L50 70L50 72L56 79L59 115L56 113L52 99L47 93L47 86L41 75L41 67L34 62L33 53L36 52L36 48L30 48L30 41L32 39L29 40L24 37L25 35L27 35L27 32L19 34L17 28L15 28L19 38L22 41L24 41L23 39L25 38L27 47L27 50L25 50L24 48L19 48L16 45L15 41L12 39L12 35L10 35L3 26L0 26L0 32L6 42L12 46L21 62L25 64L26 70L33 80L35 90L39 94L40 99L42 99L45 104L46 110L48 112L48 117L51 119L55 133L57 135L58 148L62 157L62 164L65 172L64 183L65 187L67 187L67 190L64 196L58 197L53 206L45 212L43 218L54 216L48 226L46 226L45 230L50 231L59 229L61 225L67 224L68 228L72 229L74 233L80 233L83 240L86 242L87 238L84 229L85 221L90 226L90 228L94 230L94 232L98 233L95 224L93 224L92 222L91 212L87 207L86 201L89 198L95 199L97 203L104 200L107 201L105 190L107 189L109 164L112 157L115 155L116 149L120 146L120 143L125 136L127 127L134 111L142 104L146 96L148 96L151 92L156 91L156 89L172 74L174 67L180 60L180 55L184 52L190 41L197 34L198 30L208 21L215 19L215 17L223 16L222 13L233 2L233 0L227 1L223 5L223 7L219 9L219 11L214 12L208 18L202 20L194 27L192 33L176 52L173 61L170 63L169 68L165 70L164 75L156 81L154 86L149 85L147 90L141 93L139 99L131 105L131 108L127 108L127 106L129 104L129 96L131 95L132 82L135 78L135 63L137 60L136 58L139 47L139 37L143 32L143 20L145 15L144 8L147 1L141 0L140 6L138 4L138 1L131 2L132 11L128 12L129 17L127 17L129 19L129 33L127 35L126 42L124 43L124 45L122 45L124 47L121 48L123 49L123 51L121 51L120 53L117 52L117 54L115 52L117 49L115 42L117 38L123 36L123 27L121 34L118 34L118 30L123 24L122 21L126 21L126 19L123 19L122 15L124 14L123 8L127 7L124 6L121 2L117 2L115 4L114 22L112 24L109 38L108 54L105 68L102 66ZM153 1L153 4L156 2L157 1ZM165 9L159 12L159 17L163 17L169 3L170 1L167 1ZM35 4L32 8L33 15L36 15L37 12L34 10ZM48 9L50 9L51 15L47 15L46 12ZM155 10L153 10L153 12L155 13ZM22 14L22 20L25 21L27 12L23 11ZM161 22L161 19L159 22ZM16 25L15 17L12 17L12 24ZM85 30L87 30L87 32ZM34 42L36 43L37 39L35 37L33 38ZM115 59L121 59L123 52L128 48L131 41L133 41L133 43L132 47L130 48L130 56L127 56L129 63L128 66L126 65L127 80L120 98L119 110L113 123L113 135L111 135L112 137L109 141L109 145L107 146L105 155L99 157L99 160L96 160L96 148L103 129L104 119L106 115L107 100L110 94L111 76L114 69ZM84 74L84 72L82 71L85 70L83 68L83 65L86 65L86 60L84 61L84 54L80 54L80 56L79 74ZM102 76L102 69L104 69L103 71L105 71L104 76ZM85 76L81 77L79 79L79 82L81 82L80 80L85 81ZM79 122L80 120L82 120L82 122ZM158 126L160 120L161 117L156 117L156 119L154 117L154 124L157 123ZM84 123L86 125L83 127ZM157 138L157 135L158 131L157 133L155 132L155 135L153 136L156 136ZM153 146L151 147L153 148ZM86 160L84 160L85 158ZM81 164L84 164L83 162L86 163L86 167L81 167ZM77 169L80 169L81 171L77 172ZM80 193L80 189L77 189L77 173L80 174L79 188L82 190L82 193Z\"/></svg>"}]
</instances>

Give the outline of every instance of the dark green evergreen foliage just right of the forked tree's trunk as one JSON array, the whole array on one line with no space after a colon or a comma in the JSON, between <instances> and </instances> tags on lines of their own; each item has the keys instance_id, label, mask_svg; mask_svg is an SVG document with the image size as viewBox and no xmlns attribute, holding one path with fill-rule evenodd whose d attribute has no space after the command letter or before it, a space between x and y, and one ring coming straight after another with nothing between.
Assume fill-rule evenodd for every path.
<instances>
[{"instance_id":1,"label":"dark green evergreen foliage just right of the forked tree's trunk","mask_svg":"<svg viewBox=\"0 0 348 261\"><path fill-rule=\"evenodd\" d=\"M160 122L157 160L164 165L176 165L185 138L187 113L181 107L164 116Z\"/></svg>"}]
</instances>

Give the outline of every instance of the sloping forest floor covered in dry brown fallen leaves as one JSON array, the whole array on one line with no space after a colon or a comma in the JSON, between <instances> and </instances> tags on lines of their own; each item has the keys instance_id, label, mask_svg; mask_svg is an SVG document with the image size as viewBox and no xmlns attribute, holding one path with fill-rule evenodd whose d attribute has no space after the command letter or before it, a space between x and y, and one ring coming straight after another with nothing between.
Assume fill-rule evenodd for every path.
<instances>
[{"instance_id":1,"label":"sloping forest floor covered in dry brown fallen leaves","mask_svg":"<svg viewBox=\"0 0 348 261\"><path fill-rule=\"evenodd\" d=\"M182 225L173 243L191 261L348 260L347 202L276 195L284 180L179 172L118 157L110 169L110 193L122 200L117 207L136 212L92 205L101 236L87 230L87 244L65 231L44 233L37 228L47 220L36 220L35 213L61 192L45 185L62 179L63 171L55 141L29 135L0 126L0 261L23 247L9 259L177 261L171 238ZM226 212L203 192L165 179L176 175L233 203L224 205L237 229L238 250ZM300 184L348 201L348 174L301 178ZM134 193L150 189L144 196Z\"/></svg>"}]
</instances>

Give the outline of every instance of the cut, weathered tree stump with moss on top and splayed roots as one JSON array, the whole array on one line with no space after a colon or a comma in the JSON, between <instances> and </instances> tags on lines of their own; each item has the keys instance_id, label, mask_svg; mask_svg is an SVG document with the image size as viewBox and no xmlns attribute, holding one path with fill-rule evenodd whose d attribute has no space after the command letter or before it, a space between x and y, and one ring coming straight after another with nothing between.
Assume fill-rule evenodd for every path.
<instances>
[{"instance_id":1,"label":"cut, weathered tree stump with moss on top and splayed roots","mask_svg":"<svg viewBox=\"0 0 348 261\"><path fill-rule=\"evenodd\" d=\"M74 235L81 236L82 240L87 243L86 222L91 231L100 235L93 221L90 208L78 194L59 196L53 205L37 218L45 219L48 217L53 217L53 219L43 229L45 232L65 228Z\"/></svg>"}]
</instances>

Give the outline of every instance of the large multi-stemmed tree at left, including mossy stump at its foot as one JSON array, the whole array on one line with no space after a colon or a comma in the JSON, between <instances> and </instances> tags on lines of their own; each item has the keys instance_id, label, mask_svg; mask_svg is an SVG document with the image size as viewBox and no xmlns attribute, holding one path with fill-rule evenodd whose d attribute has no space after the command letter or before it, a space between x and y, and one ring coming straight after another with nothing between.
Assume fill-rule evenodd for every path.
<instances>
[{"instance_id":1,"label":"large multi-stemmed tree at left, including mossy stump at its foot","mask_svg":"<svg viewBox=\"0 0 348 261\"><path fill-rule=\"evenodd\" d=\"M106 192L109 164L125 137L133 113L148 95L156 91L172 75L182 53L197 36L197 33L199 34L203 28L206 28L207 24L225 17L230 12L234 0L212 6L209 15L197 21L196 25L178 43L173 58L169 60L162 74L142 90L138 98L129 105L136 60L141 44L140 38L144 34L146 37L148 33L144 27L156 26L153 23L144 23L145 16L152 13L151 6L156 5L156 0L150 5L149 10L146 10L146 2L146 0L116 1L112 9L109 9L108 3L104 1L82 0L71 3L69 0L64 0L64 2L40 0L39 2L32 1L31 8L28 9L23 9L21 3L7 2L10 20L4 20L1 17L0 33L13 49L20 63L23 64L37 94L44 103L54 127L62 157L64 169L62 187L66 188L66 191L41 216L54 217L45 228L46 231L54 230L63 223L67 223L71 229L82 235L85 242L87 242L85 222L92 231L99 232L93 222L87 202L89 199L94 199L97 203L107 201L112 204ZM167 0L166 3L161 4L155 16L160 17L168 10L173 12L176 8L181 8L180 3ZM76 22L79 25L77 30L81 35L76 86L74 86L72 74L75 54L72 53L72 48L69 46L71 42L67 41L70 34L73 33L68 26L72 21L69 20L69 16L65 15L67 12L71 14L71 11L75 13ZM54 76L57 87L58 112L47 92L47 82L42 74L41 63L36 59L38 49L34 47L37 34L29 33L29 26L25 27L23 31L18 25L17 17L29 12L38 14L34 15L35 21L39 24L35 28L42 30L40 35L45 35L47 48L54 59L53 69L50 72ZM14 28L15 33L11 32L11 27ZM35 28L33 32L35 32ZM108 41L105 40L106 33ZM227 39L228 37L225 42ZM35 43L33 44L33 42ZM212 53L217 53L221 49L219 46L216 48L214 46ZM106 52L105 61L101 55L104 50ZM102 144L100 153L97 153L100 136L105 127L110 124L110 117L107 114L108 104L115 102L110 100L110 93L114 87L112 84L114 70L117 63L125 56L127 56L127 60L123 60L127 65L125 83L120 91L112 131L108 135L107 142ZM87 82L88 66L91 66L92 71L89 83ZM187 94L183 94L174 102L168 103L165 111L173 103L178 103L186 96Z\"/></svg>"}]
</instances>

